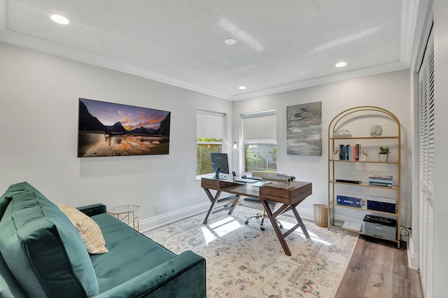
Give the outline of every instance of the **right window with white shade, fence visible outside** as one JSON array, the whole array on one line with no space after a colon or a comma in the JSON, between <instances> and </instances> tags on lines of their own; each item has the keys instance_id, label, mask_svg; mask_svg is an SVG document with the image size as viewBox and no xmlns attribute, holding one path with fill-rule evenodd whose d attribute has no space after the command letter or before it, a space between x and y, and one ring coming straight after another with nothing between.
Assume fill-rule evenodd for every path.
<instances>
[{"instance_id":1,"label":"right window with white shade, fence visible outside","mask_svg":"<svg viewBox=\"0 0 448 298\"><path fill-rule=\"evenodd\" d=\"M246 113L241 116L244 171L276 172L276 111Z\"/></svg>"}]
</instances>

